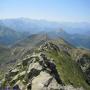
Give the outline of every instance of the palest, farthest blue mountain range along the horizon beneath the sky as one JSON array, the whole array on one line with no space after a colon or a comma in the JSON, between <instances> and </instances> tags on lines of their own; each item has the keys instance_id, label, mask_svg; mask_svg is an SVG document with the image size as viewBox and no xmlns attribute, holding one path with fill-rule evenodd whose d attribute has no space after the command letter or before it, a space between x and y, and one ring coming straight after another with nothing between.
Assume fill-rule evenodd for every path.
<instances>
[{"instance_id":1,"label":"palest, farthest blue mountain range along the horizon beneath the sky","mask_svg":"<svg viewBox=\"0 0 90 90\"><path fill-rule=\"evenodd\" d=\"M0 20L0 23L16 31L28 31L30 33L37 33L40 31L52 31L60 28L63 28L66 32L70 34L84 34L90 32L90 23L88 22L50 22L46 20L18 18Z\"/></svg>"}]
</instances>

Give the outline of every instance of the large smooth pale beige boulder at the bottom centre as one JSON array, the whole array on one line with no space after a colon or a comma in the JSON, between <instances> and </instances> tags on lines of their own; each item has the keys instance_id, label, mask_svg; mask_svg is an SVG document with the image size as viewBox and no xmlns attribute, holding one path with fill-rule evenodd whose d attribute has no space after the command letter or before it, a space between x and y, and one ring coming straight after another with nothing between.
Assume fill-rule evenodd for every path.
<instances>
[{"instance_id":1,"label":"large smooth pale beige boulder at the bottom centre","mask_svg":"<svg viewBox=\"0 0 90 90\"><path fill-rule=\"evenodd\" d=\"M54 84L54 87L52 87L51 83ZM55 90L54 88L60 90L57 81L45 71L42 71L32 80L32 90Z\"/></svg>"}]
</instances>

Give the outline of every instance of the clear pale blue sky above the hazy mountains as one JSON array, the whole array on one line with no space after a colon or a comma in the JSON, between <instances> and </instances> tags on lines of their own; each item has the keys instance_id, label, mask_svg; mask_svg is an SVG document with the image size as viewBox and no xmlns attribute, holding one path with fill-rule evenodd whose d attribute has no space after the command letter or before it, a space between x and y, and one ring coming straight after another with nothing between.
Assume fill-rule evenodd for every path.
<instances>
[{"instance_id":1,"label":"clear pale blue sky above the hazy mountains","mask_svg":"<svg viewBox=\"0 0 90 90\"><path fill-rule=\"evenodd\" d=\"M90 0L0 0L0 19L90 22Z\"/></svg>"}]
</instances>

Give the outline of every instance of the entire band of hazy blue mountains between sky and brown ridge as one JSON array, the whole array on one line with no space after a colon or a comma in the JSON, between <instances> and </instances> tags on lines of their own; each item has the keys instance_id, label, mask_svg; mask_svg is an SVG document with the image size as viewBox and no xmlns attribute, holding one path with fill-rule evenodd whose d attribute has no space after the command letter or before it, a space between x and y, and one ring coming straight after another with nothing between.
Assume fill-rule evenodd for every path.
<instances>
[{"instance_id":1,"label":"entire band of hazy blue mountains between sky and brown ridge","mask_svg":"<svg viewBox=\"0 0 90 90\"><path fill-rule=\"evenodd\" d=\"M33 34L63 38L76 47L90 48L90 23L58 23L26 18L0 20L0 43L14 45Z\"/></svg>"}]
</instances>

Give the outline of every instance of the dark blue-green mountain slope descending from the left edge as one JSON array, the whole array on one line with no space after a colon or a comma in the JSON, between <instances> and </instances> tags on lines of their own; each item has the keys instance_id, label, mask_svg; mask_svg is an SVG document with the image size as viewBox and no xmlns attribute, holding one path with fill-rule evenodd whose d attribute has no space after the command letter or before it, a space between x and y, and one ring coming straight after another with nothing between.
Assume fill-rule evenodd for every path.
<instances>
[{"instance_id":1,"label":"dark blue-green mountain slope descending from the left edge","mask_svg":"<svg viewBox=\"0 0 90 90\"><path fill-rule=\"evenodd\" d=\"M0 25L0 44L2 45L13 45L26 36L26 33L17 32L9 27Z\"/></svg>"}]
</instances>

